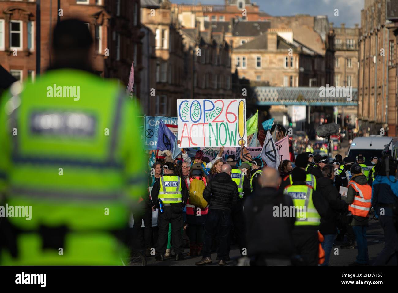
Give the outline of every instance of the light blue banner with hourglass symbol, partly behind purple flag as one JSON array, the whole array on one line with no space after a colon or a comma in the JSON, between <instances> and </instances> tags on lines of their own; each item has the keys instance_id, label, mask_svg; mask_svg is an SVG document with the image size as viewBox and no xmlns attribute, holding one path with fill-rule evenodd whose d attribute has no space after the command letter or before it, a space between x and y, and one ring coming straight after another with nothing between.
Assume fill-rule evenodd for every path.
<instances>
[{"instance_id":1,"label":"light blue banner with hourglass symbol, partly behind purple flag","mask_svg":"<svg viewBox=\"0 0 398 293\"><path fill-rule=\"evenodd\" d=\"M158 131L160 120L164 124L177 125L177 118L163 117L163 116L145 116L145 149L156 149L158 145ZM177 135L177 128L172 130L174 135Z\"/></svg>"}]
</instances>

